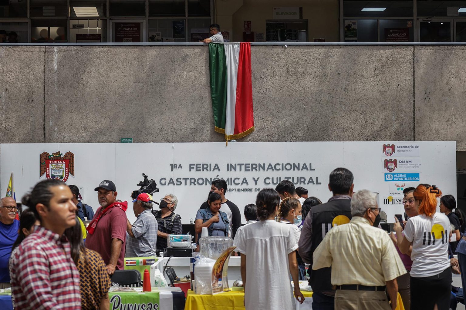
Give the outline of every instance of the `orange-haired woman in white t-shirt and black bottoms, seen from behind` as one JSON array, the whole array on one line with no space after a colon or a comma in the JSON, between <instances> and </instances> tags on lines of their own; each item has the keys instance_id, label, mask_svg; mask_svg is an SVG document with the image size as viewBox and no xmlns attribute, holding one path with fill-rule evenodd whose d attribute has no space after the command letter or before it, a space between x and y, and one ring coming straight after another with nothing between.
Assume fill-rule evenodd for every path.
<instances>
[{"instance_id":1,"label":"orange-haired woman in white t-shirt and black bottoms, seen from behind","mask_svg":"<svg viewBox=\"0 0 466 310\"><path fill-rule=\"evenodd\" d=\"M442 192L435 185L420 184L413 192L419 215L402 227L395 218L398 249L406 254L412 245L411 310L448 310L452 272L448 258L450 221L435 212Z\"/></svg>"}]
</instances>

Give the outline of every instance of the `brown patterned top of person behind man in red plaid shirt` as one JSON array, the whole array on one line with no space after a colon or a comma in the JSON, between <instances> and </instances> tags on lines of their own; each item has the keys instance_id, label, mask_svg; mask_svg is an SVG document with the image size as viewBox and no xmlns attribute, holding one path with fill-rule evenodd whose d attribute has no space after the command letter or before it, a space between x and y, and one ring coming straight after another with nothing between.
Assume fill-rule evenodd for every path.
<instances>
[{"instance_id":1,"label":"brown patterned top of person behind man in red plaid shirt","mask_svg":"<svg viewBox=\"0 0 466 310\"><path fill-rule=\"evenodd\" d=\"M107 296L111 281L102 257L96 251L84 248L76 264L79 270L82 310L100 309L100 302Z\"/></svg>"}]
</instances>

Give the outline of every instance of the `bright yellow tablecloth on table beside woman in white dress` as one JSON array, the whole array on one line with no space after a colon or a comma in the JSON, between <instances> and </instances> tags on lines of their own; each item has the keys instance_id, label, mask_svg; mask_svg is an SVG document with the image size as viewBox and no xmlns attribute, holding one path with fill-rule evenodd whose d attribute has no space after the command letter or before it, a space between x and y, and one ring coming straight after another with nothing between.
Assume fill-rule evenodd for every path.
<instances>
[{"instance_id":1,"label":"bright yellow tablecloth on table beside woman in white dress","mask_svg":"<svg viewBox=\"0 0 466 310\"><path fill-rule=\"evenodd\" d=\"M301 291L304 298L312 297L312 292ZM403 301L398 293L397 310L404 310ZM242 310L244 309L244 291L230 291L217 295L197 295L188 290L185 310Z\"/></svg>"}]
</instances>

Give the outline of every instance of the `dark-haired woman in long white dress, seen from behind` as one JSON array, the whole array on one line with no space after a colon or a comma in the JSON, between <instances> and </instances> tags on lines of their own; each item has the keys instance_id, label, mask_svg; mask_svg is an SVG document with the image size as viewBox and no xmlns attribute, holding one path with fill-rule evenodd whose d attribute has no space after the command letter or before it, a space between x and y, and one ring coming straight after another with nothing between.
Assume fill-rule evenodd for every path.
<instances>
[{"instance_id":1,"label":"dark-haired woman in long white dress, seen from behind","mask_svg":"<svg viewBox=\"0 0 466 310\"><path fill-rule=\"evenodd\" d=\"M296 309L290 273L294 296L300 303L304 301L298 283L295 225L284 225L274 220L279 203L280 196L276 191L269 188L261 190L256 199L259 220L244 227L238 240L235 251L241 253L246 310Z\"/></svg>"}]
</instances>

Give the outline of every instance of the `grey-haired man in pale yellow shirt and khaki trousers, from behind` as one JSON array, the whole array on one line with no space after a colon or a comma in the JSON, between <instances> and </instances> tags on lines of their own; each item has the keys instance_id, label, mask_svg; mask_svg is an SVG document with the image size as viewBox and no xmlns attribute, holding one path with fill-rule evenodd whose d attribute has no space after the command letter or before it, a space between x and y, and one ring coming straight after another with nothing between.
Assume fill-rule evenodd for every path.
<instances>
[{"instance_id":1,"label":"grey-haired man in pale yellow shirt and khaki trousers, from behind","mask_svg":"<svg viewBox=\"0 0 466 310\"><path fill-rule=\"evenodd\" d=\"M332 228L314 251L313 270L332 267L336 310L397 307L397 277L406 269L388 234L377 228L379 212L375 193L356 192L349 223Z\"/></svg>"}]
</instances>

